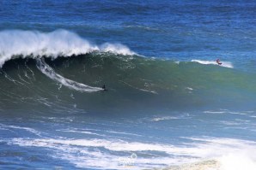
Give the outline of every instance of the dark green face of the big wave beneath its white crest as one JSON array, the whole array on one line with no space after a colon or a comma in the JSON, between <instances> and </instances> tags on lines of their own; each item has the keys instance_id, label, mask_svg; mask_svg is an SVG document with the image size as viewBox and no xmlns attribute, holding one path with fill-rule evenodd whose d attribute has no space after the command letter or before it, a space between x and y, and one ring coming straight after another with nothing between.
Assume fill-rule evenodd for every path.
<instances>
[{"instance_id":1,"label":"dark green face of the big wave beneath its white crest","mask_svg":"<svg viewBox=\"0 0 256 170\"><path fill-rule=\"evenodd\" d=\"M235 104L253 107L256 93L253 73L201 62L174 62L109 51L94 50L77 56L74 51L64 56L60 52L56 56L50 52L35 56L39 51L29 56L24 56L24 52L13 53L21 58L3 65L0 94L3 107L6 100L20 103L21 107L27 107L28 103L43 103L48 107L69 103L92 110L112 110L113 106L125 110L234 108ZM102 91L102 85L106 85L107 91ZM84 94L88 92L94 93ZM21 98L25 104L20 102Z\"/></svg>"}]
</instances>

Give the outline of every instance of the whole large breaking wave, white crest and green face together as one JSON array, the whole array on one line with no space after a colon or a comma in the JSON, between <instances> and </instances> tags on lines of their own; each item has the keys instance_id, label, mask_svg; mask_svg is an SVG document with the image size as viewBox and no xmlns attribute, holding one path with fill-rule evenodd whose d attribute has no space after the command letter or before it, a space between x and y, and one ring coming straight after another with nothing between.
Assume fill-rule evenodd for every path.
<instances>
[{"instance_id":1,"label":"whole large breaking wave, white crest and green face together","mask_svg":"<svg viewBox=\"0 0 256 170\"><path fill-rule=\"evenodd\" d=\"M110 108L145 107L149 103L177 108L233 107L241 103L253 106L254 74L230 69L231 62L222 63L223 67L219 67L214 61L177 62L141 57L123 44L96 45L65 30L3 31L0 32L0 73L3 74L0 97L9 98L6 91L11 92L13 85L19 85L15 86L19 97L11 96L17 103L21 98L34 100L33 97L44 96L36 100L46 103L45 98L52 97L46 103L51 105L56 97L75 100L76 91L80 97L81 91L102 91L100 87L107 85L112 97L107 100ZM62 86L68 89L61 91ZM80 100L76 104L87 108L106 104L101 103L101 94L94 95L94 100L82 95Z\"/></svg>"}]
</instances>

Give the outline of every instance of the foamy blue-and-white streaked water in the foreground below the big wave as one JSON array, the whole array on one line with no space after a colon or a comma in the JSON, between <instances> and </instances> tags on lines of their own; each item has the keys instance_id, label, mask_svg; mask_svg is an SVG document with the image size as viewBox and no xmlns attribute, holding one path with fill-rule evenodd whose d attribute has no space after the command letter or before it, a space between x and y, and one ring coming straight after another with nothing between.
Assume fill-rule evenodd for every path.
<instances>
[{"instance_id":1,"label":"foamy blue-and-white streaked water in the foreground below the big wave","mask_svg":"<svg viewBox=\"0 0 256 170\"><path fill-rule=\"evenodd\" d=\"M187 126L186 121L205 121L206 126L210 120L202 119L202 115L208 116L222 114L229 117L230 114L238 114L243 120L250 118L253 112L234 113L229 110L204 111L201 114L181 114L173 118L155 115L132 120L108 120L96 123L98 120L79 120L75 117L58 118L42 117L36 129L27 126L0 125L0 132L9 132L14 138L2 138L0 143L12 150L13 147L34 149L39 154L47 151L49 159L58 159L77 168L86 169L216 169L216 170L253 170L256 166L256 151L253 140L235 138L215 138L210 136L198 136L197 134L184 136L195 131L198 127ZM201 118L200 118L201 117ZM156 119L157 118L157 119ZM76 120L76 124L73 122ZM215 120L215 119L213 119ZM179 121L180 125L172 125ZM198 122L199 122L198 121ZM52 131L52 123L55 127ZM79 122L77 124L77 122ZM153 132L154 136L148 136L141 131L133 131L130 123L136 129L146 128ZM230 120L231 122L231 120ZM241 120L235 120L236 124L219 122L216 132L226 128L232 132L239 127ZM114 125L116 123L116 125ZM159 124L168 123L168 128ZM50 125L50 126L46 126ZM228 125L228 126L227 126ZM39 128L39 126L41 128ZM168 134L174 134L176 128L185 130L175 138L168 139ZM247 127L255 126L248 123ZM128 127L128 128L127 128ZM155 128L158 128L156 130ZM227 128L229 127L229 128ZM210 128L207 128L210 131ZM239 130L238 130L239 131ZM250 131L253 132L253 129ZM24 134L23 137L15 137L15 132ZM158 132L159 135L155 135ZM167 132L167 133L163 133ZM13 135L11 135L13 134ZM52 136L52 134L55 134ZM132 139L131 139L132 138ZM155 138L152 140L152 138ZM63 165L60 164L60 167Z\"/></svg>"}]
</instances>

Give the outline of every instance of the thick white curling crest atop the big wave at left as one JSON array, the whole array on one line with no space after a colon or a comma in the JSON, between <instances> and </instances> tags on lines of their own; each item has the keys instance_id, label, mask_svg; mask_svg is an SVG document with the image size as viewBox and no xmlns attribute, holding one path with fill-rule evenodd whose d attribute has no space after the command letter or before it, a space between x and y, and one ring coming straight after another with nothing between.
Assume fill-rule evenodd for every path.
<instances>
[{"instance_id":1,"label":"thick white curling crest atop the big wave at left","mask_svg":"<svg viewBox=\"0 0 256 170\"><path fill-rule=\"evenodd\" d=\"M74 32L56 30L54 32L8 30L0 32L0 67L4 62L17 56L57 58L87 54L93 51L113 52L120 55L135 55L123 44L91 44Z\"/></svg>"}]
</instances>

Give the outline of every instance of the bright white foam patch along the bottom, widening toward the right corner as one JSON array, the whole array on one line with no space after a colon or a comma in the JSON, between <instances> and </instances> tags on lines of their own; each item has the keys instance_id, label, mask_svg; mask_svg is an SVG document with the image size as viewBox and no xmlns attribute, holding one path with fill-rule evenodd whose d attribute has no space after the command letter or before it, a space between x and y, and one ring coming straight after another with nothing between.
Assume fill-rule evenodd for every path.
<instances>
[{"instance_id":1,"label":"bright white foam patch along the bottom, widening toward the right corner","mask_svg":"<svg viewBox=\"0 0 256 170\"><path fill-rule=\"evenodd\" d=\"M53 157L70 161L76 167L82 168L122 169L124 167L119 166L119 157L123 156L122 154L124 153L135 153L137 154L137 160L134 162L134 167L131 167L132 169L184 165L204 160L218 161L220 163L220 170L255 169L256 155L254 153L256 152L256 143L253 141L209 137L186 139L190 140L190 142L177 146L171 144L127 142L113 138L13 138L7 140L9 140L8 144L52 149L52 152L55 153L52 155ZM104 151L105 149L110 151ZM152 154L151 151L156 152ZM158 155L157 153L159 152L165 153L165 155ZM77 153L79 154L77 155ZM143 154L140 155L139 153ZM193 166L201 165L194 164Z\"/></svg>"}]
</instances>

